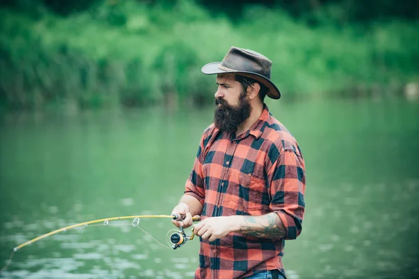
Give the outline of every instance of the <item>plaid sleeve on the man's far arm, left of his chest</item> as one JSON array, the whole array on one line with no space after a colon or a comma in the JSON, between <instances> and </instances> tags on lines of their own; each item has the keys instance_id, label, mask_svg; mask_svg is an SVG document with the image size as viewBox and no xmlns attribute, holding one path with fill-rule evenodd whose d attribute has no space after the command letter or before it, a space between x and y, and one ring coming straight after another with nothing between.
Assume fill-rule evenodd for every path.
<instances>
[{"instance_id":1,"label":"plaid sleeve on the man's far arm, left of his chest","mask_svg":"<svg viewBox=\"0 0 419 279\"><path fill-rule=\"evenodd\" d=\"M185 195L191 195L195 197L203 206L205 200L205 187L203 179L204 139L205 133L203 137L201 137L198 153L196 154L191 174L189 175L189 179L186 181L185 186Z\"/></svg>"}]
</instances>

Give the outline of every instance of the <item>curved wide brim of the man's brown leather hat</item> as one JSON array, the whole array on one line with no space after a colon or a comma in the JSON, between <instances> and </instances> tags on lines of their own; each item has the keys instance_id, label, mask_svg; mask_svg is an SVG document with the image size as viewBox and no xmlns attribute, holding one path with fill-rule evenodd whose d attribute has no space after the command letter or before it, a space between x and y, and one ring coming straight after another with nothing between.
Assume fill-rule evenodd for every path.
<instances>
[{"instance_id":1,"label":"curved wide brim of the man's brown leather hat","mask_svg":"<svg viewBox=\"0 0 419 279\"><path fill-rule=\"evenodd\" d=\"M281 98L281 92L279 92L279 89L277 86L271 82L269 79L264 77L263 75L260 75L258 73L253 72L246 72L242 70L221 70L219 68L219 65L221 62L211 62L207 63L207 65L203 66L201 71L205 75L217 75L217 74L227 74L227 73L235 73L237 75L243 75L244 77L251 77L253 80L257 80L261 84L265 85L268 89L267 96L272 99L279 99Z\"/></svg>"}]
</instances>

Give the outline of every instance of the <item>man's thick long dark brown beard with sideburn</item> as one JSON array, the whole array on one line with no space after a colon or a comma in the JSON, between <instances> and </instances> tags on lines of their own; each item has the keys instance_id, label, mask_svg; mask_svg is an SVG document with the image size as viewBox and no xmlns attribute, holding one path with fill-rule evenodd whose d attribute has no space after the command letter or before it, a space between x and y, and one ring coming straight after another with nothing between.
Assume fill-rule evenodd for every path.
<instances>
[{"instance_id":1,"label":"man's thick long dark brown beard with sideburn","mask_svg":"<svg viewBox=\"0 0 419 279\"><path fill-rule=\"evenodd\" d=\"M242 91L237 106L229 105L222 98L215 99L214 125L216 128L226 133L233 133L237 126L249 118L251 106L247 100L247 92ZM221 106L219 106L221 105Z\"/></svg>"}]
</instances>

